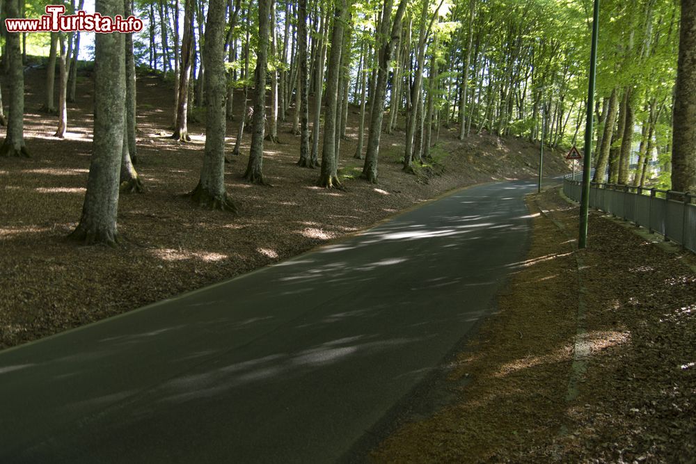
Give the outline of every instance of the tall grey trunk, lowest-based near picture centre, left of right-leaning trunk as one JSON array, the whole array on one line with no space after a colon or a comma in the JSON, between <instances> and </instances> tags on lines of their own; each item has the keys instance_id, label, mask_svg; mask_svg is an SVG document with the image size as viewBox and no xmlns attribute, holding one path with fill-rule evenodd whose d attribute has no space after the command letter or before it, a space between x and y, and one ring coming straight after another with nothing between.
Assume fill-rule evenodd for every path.
<instances>
[{"instance_id":1,"label":"tall grey trunk, lowest-based near picture centre, left of right-leaning trunk","mask_svg":"<svg viewBox=\"0 0 696 464\"><path fill-rule=\"evenodd\" d=\"M336 170L336 113L338 104L338 81L341 69L343 25L346 20L346 0L336 3L331 31L331 54L326 66L326 107L324 109L324 145L322 150L322 174L317 184L331 189L340 187Z\"/></svg>"}]
</instances>

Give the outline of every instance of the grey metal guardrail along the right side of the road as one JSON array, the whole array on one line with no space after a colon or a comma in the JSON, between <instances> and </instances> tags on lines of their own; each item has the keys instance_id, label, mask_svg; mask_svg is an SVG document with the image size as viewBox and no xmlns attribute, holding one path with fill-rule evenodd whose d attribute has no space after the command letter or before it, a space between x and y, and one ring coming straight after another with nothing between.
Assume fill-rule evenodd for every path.
<instances>
[{"instance_id":1,"label":"grey metal guardrail along the right side of the road","mask_svg":"<svg viewBox=\"0 0 696 464\"><path fill-rule=\"evenodd\" d=\"M582 182L563 179L563 193L580 201ZM632 221L696 253L696 195L617 184L590 184L590 207Z\"/></svg>"}]
</instances>

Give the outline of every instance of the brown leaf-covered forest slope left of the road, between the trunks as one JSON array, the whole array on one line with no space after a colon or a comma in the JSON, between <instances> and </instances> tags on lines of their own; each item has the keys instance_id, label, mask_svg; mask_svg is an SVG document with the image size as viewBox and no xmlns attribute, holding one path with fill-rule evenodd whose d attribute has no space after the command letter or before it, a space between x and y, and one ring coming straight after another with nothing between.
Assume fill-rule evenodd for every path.
<instances>
[{"instance_id":1,"label":"brown leaf-covered forest slope left of the road, between the trunks","mask_svg":"<svg viewBox=\"0 0 696 464\"><path fill-rule=\"evenodd\" d=\"M358 111L351 106L339 171L346 189L326 190L315 186L318 170L296 166L299 137L290 133L291 109L278 127L280 143L267 141L264 149L264 174L273 186L242 180L251 138L246 132L242 156L226 165L228 193L239 215L206 211L185 196L198 182L205 125L189 124L191 143L168 138L173 86L143 74L136 168L146 191L120 196L118 248L80 246L66 237L84 201L93 81L81 72L61 140L52 136L56 116L41 111L45 76L45 67L25 73L25 138L32 157L0 159L0 349L273 264L457 187L534 177L539 166L536 145L487 134L460 142L454 127L442 127L434 161L408 175L401 170L404 133L397 130L383 134L379 184L369 184L359 179L362 161L353 158ZM242 113L241 92L235 113L228 122L229 152ZM567 171L562 153L549 150L545 175Z\"/></svg>"}]
</instances>

